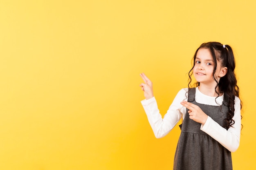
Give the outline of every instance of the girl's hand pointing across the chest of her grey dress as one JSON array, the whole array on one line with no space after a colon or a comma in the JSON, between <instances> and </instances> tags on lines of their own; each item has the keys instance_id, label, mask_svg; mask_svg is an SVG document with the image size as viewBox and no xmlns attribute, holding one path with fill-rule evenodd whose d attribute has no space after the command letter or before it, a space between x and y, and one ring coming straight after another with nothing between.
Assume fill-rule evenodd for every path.
<instances>
[{"instance_id":1,"label":"girl's hand pointing across the chest of her grey dress","mask_svg":"<svg viewBox=\"0 0 256 170\"><path fill-rule=\"evenodd\" d=\"M190 119L202 125L205 124L208 115L205 114L199 106L186 101L182 101L180 104L189 109L188 113Z\"/></svg>"}]
</instances>

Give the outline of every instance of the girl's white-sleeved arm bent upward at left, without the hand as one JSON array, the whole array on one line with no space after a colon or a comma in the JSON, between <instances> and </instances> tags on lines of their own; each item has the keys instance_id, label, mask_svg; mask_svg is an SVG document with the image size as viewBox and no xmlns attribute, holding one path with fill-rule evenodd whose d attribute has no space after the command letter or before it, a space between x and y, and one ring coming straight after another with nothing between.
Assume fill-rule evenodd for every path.
<instances>
[{"instance_id":1,"label":"girl's white-sleeved arm bent upward at left, without the hand","mask_svg":"<svg viewBox=\"0 0 256 170\"><path fill-rule=\"evenodd\" d=\"M177 93L164 118L159 113L155 97L141 101L156 138L167 135L186 113L186 108L180 104L180 101L186 99L186 92L187 88L183 88Z\"/></svg>"}]
</instances>

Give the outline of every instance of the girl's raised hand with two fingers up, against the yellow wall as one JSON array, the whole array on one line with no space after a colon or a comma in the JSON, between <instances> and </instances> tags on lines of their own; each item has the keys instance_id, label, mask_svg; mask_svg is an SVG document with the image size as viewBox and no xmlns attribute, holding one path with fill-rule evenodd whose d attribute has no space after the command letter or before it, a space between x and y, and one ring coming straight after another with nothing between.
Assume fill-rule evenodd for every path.
<instances>
[{"instance_id":1,"label":"girl's raised hand with two fingers up, against the yellow wall","mask_svg":"<svg viewBox=\"0 0 256 170\"><path fill-rule=\"evenodd\" d=\"M153 95L153 83L148 79L148 77L144 74L140 74L141 78L144 80L145 83L141 83L139 86L141 86L141 89L144 91L144 96L146 99L150 99L154 97Z\"/></svg>"}]
</instances>

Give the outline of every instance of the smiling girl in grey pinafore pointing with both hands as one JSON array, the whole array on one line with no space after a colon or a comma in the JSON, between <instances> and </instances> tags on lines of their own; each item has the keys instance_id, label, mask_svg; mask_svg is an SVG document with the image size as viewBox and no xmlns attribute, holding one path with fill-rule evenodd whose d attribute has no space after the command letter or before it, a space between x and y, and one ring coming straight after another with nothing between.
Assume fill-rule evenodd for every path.
<instances>
[{"instance_id":1,"label":"smiling girl in grey pinafore pointing with both hands","mask_svg":"<svg viewBox=\"0 0 256 170\"><path fill-rule=\"evenodd\" d=\"M144 73L141 101L155 137L161 138L183 119L173 170L232 170L231 152L240 141L239 88L234 74L231 47L219 42L203 43L189 71L195 88L181 89L162 118L153 95L152 82Z\"/></svg>"}]
</instances>

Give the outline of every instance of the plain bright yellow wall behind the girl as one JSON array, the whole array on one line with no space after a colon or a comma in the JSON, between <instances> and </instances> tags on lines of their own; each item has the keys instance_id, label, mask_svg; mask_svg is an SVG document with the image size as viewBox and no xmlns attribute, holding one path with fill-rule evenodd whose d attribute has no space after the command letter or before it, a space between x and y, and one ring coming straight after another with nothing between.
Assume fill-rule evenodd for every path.
<instances>
[{"instance_id":1,"label":"plain bright yellow wall behind the girl","mask_svg":"<svg viewBox=\"0 0 256 170\"><path fill-rule=\"evenodd\" d=\"M234 170L255 167L254 0L0 0L0 169L169 170L139 73L164 114L202 42L233 47L244 102Z\"/></svg>"}]
</instances>

